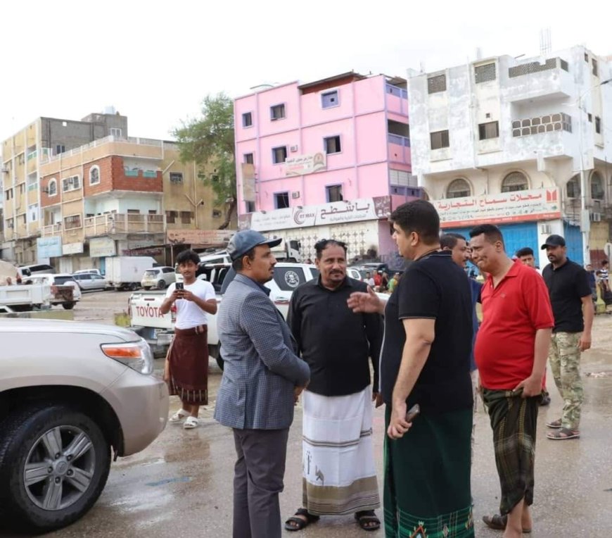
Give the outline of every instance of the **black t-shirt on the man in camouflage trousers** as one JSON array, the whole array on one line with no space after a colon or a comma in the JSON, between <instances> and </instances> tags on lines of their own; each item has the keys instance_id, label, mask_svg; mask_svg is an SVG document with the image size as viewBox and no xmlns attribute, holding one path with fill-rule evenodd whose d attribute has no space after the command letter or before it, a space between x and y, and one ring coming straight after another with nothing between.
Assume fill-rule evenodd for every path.
<instances>
[{"instance_id":1,"label":"black t-shirt on the man in camouflage trousers","mask_svg":"<svg viewBox=\"0 0 612 538\"><path fill-rule=\"evenodd\" d=\"M542 277L548 287L552 304L553 332L582 332L585 330L585 320L582 318L582 297L591 298L591 287L585 268L568 258L566 263L556 269L552 263L549 263L542 270Z\"/></svg>"}]
</instances>

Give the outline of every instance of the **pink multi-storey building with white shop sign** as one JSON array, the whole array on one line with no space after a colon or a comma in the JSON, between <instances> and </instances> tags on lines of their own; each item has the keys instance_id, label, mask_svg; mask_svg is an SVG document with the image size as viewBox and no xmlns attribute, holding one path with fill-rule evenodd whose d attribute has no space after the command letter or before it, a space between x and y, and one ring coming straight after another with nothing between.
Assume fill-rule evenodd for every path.
<instances>
[{"instance_id":1,"label":"pink multi-storey building with white shop sign","mask_svg":"<svg viewBox=\"0 0 612 538\"><path fill-rule=\"evenodd\" d=\"M419 196L410 166L406 80L343 73L262 87L236 99L243 228L298 240L334 237L349 256L395 250L386 217Z\"/></svg>"}]
</instances>

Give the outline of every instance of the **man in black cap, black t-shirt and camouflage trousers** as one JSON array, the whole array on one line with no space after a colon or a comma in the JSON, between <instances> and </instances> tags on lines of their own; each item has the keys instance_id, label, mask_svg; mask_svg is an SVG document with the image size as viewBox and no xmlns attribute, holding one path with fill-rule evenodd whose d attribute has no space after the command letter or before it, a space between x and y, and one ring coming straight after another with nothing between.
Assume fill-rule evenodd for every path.
<instances>
[{"instance_id":1,"label":"man in black cap, black t-shirt and camouflage trousers","mask_svg":"<svg viewBox=\"0 0 612 538\"><path fill-rule=\"evenodd\" d=\"M554 329L548 358L556 387L563 398L563 416L547 426L549 439L580 437L580 408L583 390L580 352L591 347L594 307L587 272L567 257L566 240L550 235L542 250L551 263L542 271L548 287Z\"/></svg>"}]
</instances>

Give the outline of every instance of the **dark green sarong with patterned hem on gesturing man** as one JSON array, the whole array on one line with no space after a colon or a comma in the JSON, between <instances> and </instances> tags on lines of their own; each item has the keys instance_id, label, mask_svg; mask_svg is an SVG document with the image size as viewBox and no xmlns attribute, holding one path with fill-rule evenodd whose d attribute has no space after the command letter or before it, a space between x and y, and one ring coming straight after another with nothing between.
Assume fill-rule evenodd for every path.
<instances>
[{"instance_id":1,"label":"dark green sarong with patterned hem on gesturing man","mask_svg":"<svg viewBox=\"0 0 612 538\"><path fill-rule=\"evenodd\" d=\"M385 536L473 538L471 408L419 415L402 439L389 439L385 411Z\"/></svg>"}]
</instances>

